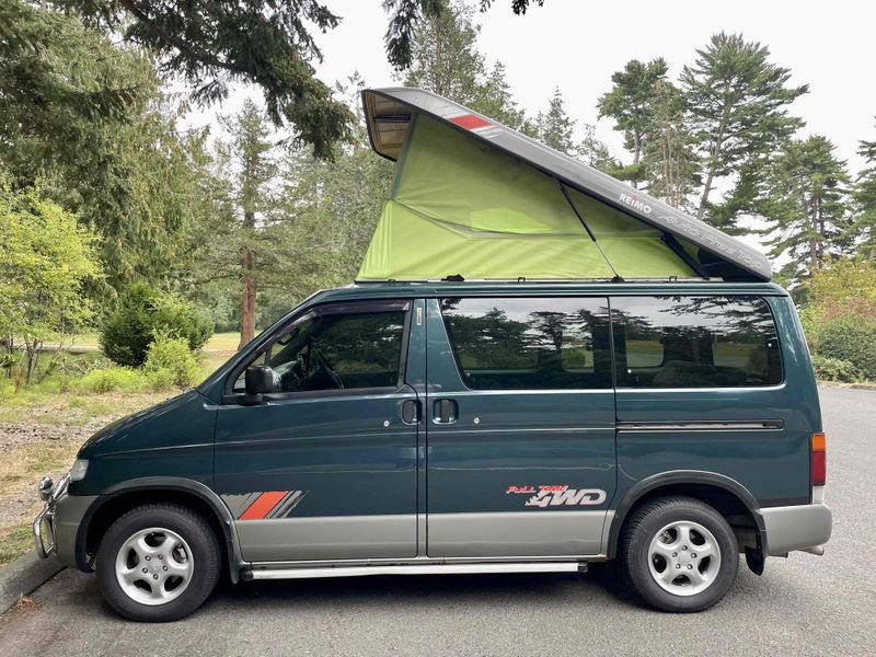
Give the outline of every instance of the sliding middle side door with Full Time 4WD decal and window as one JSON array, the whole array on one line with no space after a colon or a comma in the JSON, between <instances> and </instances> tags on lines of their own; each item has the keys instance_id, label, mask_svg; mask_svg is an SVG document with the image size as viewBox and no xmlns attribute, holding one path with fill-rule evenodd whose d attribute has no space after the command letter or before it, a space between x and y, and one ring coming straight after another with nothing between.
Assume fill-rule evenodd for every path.
<instances>
[{"instance_id":1,"label":"sliding middle side door with Full Time 4WD decal and window","mask_svg":"<svg viewBox=\"0 0 876 657\"><path fill-rule=\"evenodd\" d=\"M606 298L427 312L431 557L593 555L615 489Z\"/></svg>"}]
</instances>

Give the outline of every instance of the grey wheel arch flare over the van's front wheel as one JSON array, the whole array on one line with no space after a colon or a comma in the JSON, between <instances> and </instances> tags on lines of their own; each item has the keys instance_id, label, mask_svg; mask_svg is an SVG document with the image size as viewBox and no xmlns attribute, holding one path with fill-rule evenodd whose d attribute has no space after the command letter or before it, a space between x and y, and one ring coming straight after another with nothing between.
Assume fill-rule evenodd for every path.
<instances>
[{"instance_id":1,"label":"grey wheel arch flare over the van's front wheel","mask_svg":"<svg viewBox=\"0 0 876 657\"><path fill-rule=\"evenodd\" d=\"M199 511L220 539L231 581L238 581L240 569L245 564L231 511L208 486L184 477L141 477L116 484L101 493L89 507L77 531L76 562L79 569L93 569L89 554L96 552L96 545L116 518L131 508L151 503L181 504Z\"/></svg>"}]
</instances>

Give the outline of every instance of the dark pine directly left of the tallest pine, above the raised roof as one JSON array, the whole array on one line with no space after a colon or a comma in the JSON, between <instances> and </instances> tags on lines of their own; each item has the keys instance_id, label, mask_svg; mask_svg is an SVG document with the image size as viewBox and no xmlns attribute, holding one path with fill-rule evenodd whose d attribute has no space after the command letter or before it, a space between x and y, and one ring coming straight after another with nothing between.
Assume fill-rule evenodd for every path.
<instances>
[{"instance_id":1,"label":"dark pine directly left of the tallest pine, above the raised roof","mask_svg":"<svg viewBox=\"0 0 876 657\"><path fill-rule=\"evenodd\" d=\"M655 85L658 81L666 83L668 70L661 57L647 64L631 59L622 71L611 76L614 87L597 103L599 118L614 119L614 129L623 132L624 148L633 153L633 163L625 177L634 187L645 174L639 162L645 150L645 136L654 122Z\"/></svg>"}]
</instances>

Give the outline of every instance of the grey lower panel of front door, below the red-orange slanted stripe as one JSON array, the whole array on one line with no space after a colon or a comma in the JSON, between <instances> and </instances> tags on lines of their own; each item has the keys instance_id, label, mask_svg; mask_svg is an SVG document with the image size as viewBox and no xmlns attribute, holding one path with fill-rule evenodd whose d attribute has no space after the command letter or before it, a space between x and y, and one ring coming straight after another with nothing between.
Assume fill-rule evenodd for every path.
<instances>
[{"instance_id":1,"label":"grey lower panel of front door, below the red-orange slanted stripe","mask_svg":"<svg viewBox=\"0 0 876 657\"><path fill-rule=\"evenodd\" d=\"M234 526L247 562L405 558L417 550L415 514L239 520Z\"/></svg>"}]
</instances>

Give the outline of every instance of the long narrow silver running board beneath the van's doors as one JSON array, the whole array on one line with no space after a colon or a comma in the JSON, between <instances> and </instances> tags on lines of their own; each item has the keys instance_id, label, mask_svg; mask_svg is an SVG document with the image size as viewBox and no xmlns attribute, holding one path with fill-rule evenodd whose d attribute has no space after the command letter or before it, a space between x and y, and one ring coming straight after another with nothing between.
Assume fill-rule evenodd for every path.
<instances>
[{"instance_id":1,"label":"long narrow silver running board beneath the van's doors","mask_svg":"<svg viewBox=\"0 0 876 657\"><path fill-rule=\"evenodd\" d=\"M462 575L489 573L586 573L583 562L410 564L387 566L327 566L319 568L251 568L242 573L252 579L309 579L315 577L362 577L365 575Z\"/></svg>"}]
</instances>

